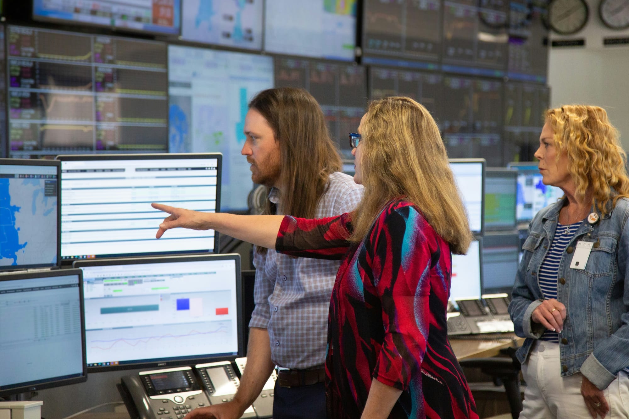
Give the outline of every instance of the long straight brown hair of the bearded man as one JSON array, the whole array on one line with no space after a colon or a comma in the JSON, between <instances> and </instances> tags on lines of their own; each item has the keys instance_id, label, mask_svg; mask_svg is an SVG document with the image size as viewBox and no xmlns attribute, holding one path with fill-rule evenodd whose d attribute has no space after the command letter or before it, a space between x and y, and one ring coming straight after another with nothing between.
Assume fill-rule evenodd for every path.
<instances>
[{"instance_id":1,"label":"long straight brown hair of the bearded man","mask_svg":"<svg viewBox=\"0 0 629 419\"><path fill-rule=\"evenodd\" d=\"M264 116L280 149L280 206L267 199L263 214L314 218L330 174L342 167L319 104L304 89L277 87L259 92L249 109Z\"/></svg>"}]
</instances>

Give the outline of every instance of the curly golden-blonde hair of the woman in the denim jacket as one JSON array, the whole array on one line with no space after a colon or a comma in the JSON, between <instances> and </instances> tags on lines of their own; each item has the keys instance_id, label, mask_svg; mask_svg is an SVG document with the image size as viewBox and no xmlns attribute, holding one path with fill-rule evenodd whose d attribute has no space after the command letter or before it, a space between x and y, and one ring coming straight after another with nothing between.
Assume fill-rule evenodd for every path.
<instances>
[{"instance_id":1,"label":"curly golden-blonde hair of the woman in the denim jacket","mask_svg":"<svg viewBox=\"0 0 629 419\"><path fill-rule=\"evenodd\" d=\"M557 156L567 154L577 199L584 200L591 187L598 210L606 215L610 202L613 208L619 198L629 198L626 153L605 109L565 105L548 109L545 119L554 131Z\"/></svg>"}]
</instances>

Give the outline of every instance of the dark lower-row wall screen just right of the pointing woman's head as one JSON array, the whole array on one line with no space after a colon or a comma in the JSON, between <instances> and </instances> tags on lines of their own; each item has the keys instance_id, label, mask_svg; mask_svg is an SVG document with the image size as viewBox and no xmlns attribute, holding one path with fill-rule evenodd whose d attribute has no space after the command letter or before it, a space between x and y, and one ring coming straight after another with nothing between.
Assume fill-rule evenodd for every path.
<instances>
[{"instance_id":1,"label":"dark lower-row wall screen just right of the pointing woman's head","mask_svg":"<svg viewBox=\"0 0 629 419\"><path fill-rule=\"evenodd\" d=\"M503 165L503 82L444 75L443 99L440 120L448 155Z\"/></svg>"}]
</instances>

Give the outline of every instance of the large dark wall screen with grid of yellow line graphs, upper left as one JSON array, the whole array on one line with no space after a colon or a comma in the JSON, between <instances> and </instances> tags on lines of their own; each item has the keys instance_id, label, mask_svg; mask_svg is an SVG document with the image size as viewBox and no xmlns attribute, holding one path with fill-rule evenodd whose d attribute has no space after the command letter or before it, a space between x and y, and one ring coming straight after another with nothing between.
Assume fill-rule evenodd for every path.
<instances>
[{"instance_id":1,"label":"large dark wall screen with grid of yellow line graphs, upper left","mask_svg":"<svg viewBox=\"0 0 629 419\"><path fill-rule=\"evenodd\" d=\"M167 151L166 46L8 27L9 157Z\"/></svg>"}]
</instances>

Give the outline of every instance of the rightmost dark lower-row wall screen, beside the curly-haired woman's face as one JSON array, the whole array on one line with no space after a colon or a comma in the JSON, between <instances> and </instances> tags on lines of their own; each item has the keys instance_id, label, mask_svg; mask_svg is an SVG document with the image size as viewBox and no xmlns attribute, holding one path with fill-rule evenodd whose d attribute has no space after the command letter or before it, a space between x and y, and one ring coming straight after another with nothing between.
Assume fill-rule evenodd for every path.
<instances>
[{"instance_id":1,"label":"rightmost dark lower-row wall screen, beside the curly-haired woman's face","mask_svg":"<svg viewBox=\"0 0 629 419\"><path fill-rule=\"evenodd\" d=\"M535 160L550 90L533 83L504 84L504 162Z\"/></svg>"}]
</instances>

